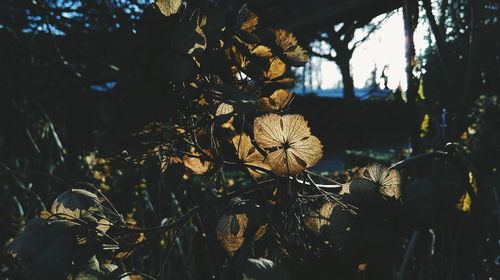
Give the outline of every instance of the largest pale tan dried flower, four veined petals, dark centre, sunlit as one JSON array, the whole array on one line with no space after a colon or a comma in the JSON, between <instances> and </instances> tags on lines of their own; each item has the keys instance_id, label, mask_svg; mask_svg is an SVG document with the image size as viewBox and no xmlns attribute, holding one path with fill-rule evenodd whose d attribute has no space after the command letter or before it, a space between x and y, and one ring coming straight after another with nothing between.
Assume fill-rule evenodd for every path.
<instances>
[{"instance_id":1,"label":"largest pale tan dried flower, four veined petals, dark centre, sunlit","mask_svg":"<svg viewBox=\"0 0 500 280\"><path fill-rule=\"evenodd\" d=\"M323 156L323 145L311 135L301 115L257 117L254 136L257 144L269 151L264 162L280 176L296 175Z\"/></svg>"}]
</instances>

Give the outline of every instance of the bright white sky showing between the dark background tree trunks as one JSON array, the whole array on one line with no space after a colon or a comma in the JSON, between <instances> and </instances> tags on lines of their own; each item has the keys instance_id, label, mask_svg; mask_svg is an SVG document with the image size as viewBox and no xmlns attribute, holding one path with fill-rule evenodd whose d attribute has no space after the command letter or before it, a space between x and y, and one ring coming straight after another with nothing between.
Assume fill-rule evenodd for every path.
<instances>
[{"instance_id":1,"label":"bright white sky showing between the dark background tree trunks","mask_svg":"<svg viewBox=\"0 0 500 280\"><path fill-rule=\"evenodd\" d=\"M384 16L378 16L373 22L380 21ZM425 39L427 30L426 24L419 23L417 26L414 35L417 54L423 51L428 45ZM362 38L363 35L362 31L356 31L353 42ZM389 88L396 89L401 84L403 89L405 89L404 43L403 13L399 9L378 30L372 33L367 41L358 46L354 51L351 59L354 86L357 88L364 87L375 66L377 67L377 77L380 77L382 69L387 65L385 73L388 76ZM328 49L326 46L320 48L323 50L325 48ZM317 57L311 60L313 65L318 65L318 62L321 67L321 75L317 77L317 82L313 82L313 88L330 89L339 87L339 81L342 80L342 77L337 65L334 62Z\"/></svg>"}]
</instances>

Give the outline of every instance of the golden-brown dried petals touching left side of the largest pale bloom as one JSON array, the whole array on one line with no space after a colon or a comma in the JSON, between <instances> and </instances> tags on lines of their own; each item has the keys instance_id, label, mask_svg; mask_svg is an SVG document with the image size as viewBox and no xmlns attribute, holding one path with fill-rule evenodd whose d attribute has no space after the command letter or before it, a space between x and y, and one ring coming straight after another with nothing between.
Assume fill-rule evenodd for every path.
<instances>
[{"instance_id":1,"label":"golden-brown dried petals touching left side of the largest pale bloom","mask_svg":"<svg viewBox=\"0 0 500 280\"><path fill-rule=\"evenodd\" d=\"M245 164L264 168L270 170L269 166L264 163L264 156L255 148L250 140L250 136L245 133L236 135L231 140L233 142L234 148L238 154L238 158L242 160ZM262 177L264 174L262 171L247 168L248 172L254 178Z\"/></svg>"}]
</instances>

